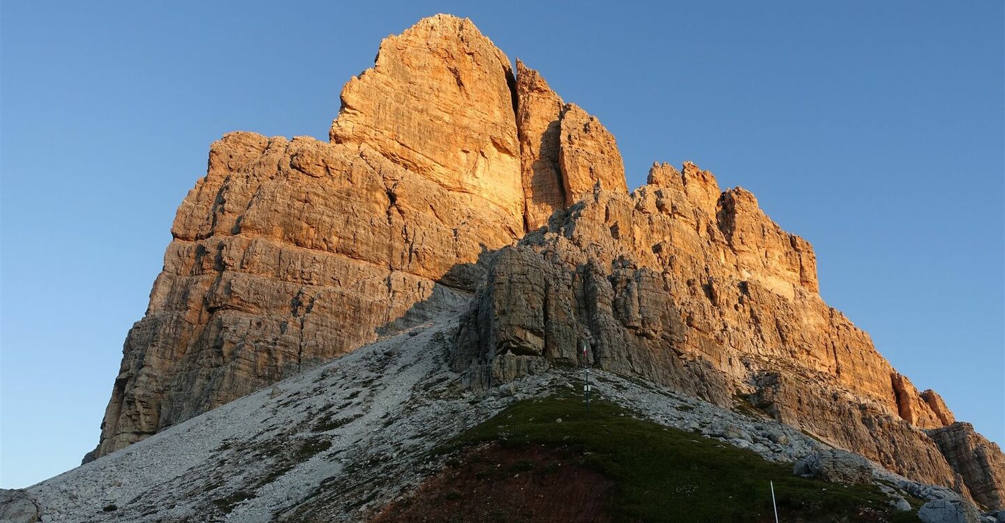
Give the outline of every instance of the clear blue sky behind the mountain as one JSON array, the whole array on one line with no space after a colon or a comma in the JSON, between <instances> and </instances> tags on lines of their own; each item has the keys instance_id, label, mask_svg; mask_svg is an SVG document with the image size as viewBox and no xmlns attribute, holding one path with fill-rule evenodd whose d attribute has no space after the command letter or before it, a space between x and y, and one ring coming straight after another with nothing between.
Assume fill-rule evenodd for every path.
<instances>
[{"instance_id":1,"label":"clear blue sky behind the mountain","mask_svg":"<svg viewBox=\"0 0 1005 523\"><path fill-rule=\"evenodd\" d=\"M470 17L617 137L816 247L821 293L1005 443L1003 4L5 2L0 486L79 463L224 133L327 140L380 39ZM170 6L170 7L169 7Z\"/></svg>"}]
</instances>

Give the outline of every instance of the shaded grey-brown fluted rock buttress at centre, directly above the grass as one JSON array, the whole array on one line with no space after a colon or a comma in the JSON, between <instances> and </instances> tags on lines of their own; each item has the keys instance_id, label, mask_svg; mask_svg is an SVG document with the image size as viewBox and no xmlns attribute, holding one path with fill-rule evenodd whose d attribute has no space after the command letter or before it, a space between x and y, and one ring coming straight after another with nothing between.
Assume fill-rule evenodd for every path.
<instances>
[{"instance_id":1,"label":"shaded grey-brown fluted rock buttress at centre, directly above the grass","mask_svg":"<svg viewBox=\"0 0 1005 523\"><path fill-rule=\"evenodd\" d=\"M454 366L470 384L491 386L548 364L583 365L729 403L719 372L678 357L685 327L658 274L632 267L606 273L580 261L567 265L527 246L498 253L458 331Z\"/></svg>"}]
</instances>

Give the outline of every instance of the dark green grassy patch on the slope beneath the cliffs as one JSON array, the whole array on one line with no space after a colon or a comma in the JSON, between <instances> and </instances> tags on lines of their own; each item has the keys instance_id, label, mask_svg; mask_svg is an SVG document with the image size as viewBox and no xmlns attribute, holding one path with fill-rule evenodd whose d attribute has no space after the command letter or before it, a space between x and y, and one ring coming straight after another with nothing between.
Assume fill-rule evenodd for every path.
<instances>
[{"instance_id":1,"label":"dark green grassy patch on the slope beneath the cliffs","mask_svg":"<svg viewBox=\"0 0 1005 523\"><path fill-rule=\"evenodd\" d=\"M558 420L561 419L561 423ZM460 435L440 452L480 442L510 448L545 445L571 453L617 485L617 521L774 521L774 482L781 521L918 521L887 505L874 485L841 485L792 475L792 465L638 420L607 402L568 393L520 402Z\"/></svg>"}]
</instances>

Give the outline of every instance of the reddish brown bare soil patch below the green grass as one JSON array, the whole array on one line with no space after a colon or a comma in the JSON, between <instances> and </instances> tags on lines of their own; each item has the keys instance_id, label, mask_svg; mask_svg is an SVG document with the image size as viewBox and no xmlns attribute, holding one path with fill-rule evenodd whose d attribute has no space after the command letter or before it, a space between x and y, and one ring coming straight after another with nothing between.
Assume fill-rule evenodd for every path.
<instances>
[{"instance_id":1,"label":"reddish brown bare soil patch below the green grass","mask_svg":"<svg viewBox=\"0 0 1005 523\"><path fill-rule=\"evenodd\" d=\"M609 522L614 483L571 453L495 443L464 452L373 519L391 522Z\"/></svg>"}]
</instances>

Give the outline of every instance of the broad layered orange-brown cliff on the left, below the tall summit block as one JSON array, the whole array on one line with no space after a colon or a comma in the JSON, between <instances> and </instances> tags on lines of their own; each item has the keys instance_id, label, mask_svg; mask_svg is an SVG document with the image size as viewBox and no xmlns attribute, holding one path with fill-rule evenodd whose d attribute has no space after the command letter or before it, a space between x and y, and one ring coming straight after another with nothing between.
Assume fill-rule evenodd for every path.
<instances>
[{"instance_id":1,"label":"broad layered orange-brown cliff on the left, below the tall summit block","mask_svg":"<svg viewBox=\"0 0 1005 523\"><path fill-rule=\"evenodd\" d=\"M508 220L365 147L228 135L178 211L98 455L463 299Z\"/></svg>"}]
</instances>

